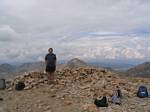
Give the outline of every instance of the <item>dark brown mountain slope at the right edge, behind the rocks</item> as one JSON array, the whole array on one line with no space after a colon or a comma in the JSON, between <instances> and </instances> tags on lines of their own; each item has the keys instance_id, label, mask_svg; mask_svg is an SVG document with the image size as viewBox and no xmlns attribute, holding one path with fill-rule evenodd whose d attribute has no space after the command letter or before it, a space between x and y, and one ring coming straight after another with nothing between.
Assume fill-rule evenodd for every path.
<instances>
[{"instance_id":1,"label":"dark brown mountain slope at the right edge, behind the rocks","mask_svg":"<svg viewBox=\"0 0 150 112\"><path fill-rule=\"evenodd\" d=\"M149 77L150 78L150 62L145 62L143 64L137 65L128 70L128 74L132 76L139 77Z\"/></svg>"}]
</instances>

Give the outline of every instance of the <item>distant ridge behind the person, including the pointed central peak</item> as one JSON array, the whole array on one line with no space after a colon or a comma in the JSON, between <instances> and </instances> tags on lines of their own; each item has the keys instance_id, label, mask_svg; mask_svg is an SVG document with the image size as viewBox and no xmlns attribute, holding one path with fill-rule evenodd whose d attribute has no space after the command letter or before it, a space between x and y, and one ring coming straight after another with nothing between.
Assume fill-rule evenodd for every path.
<instances>
[{"instance_id":1,"label":"distant ridge behind the person, including the pointed central peak","mask_svg":"<svg viewBox=\"0 0 150 112\"><path fill-rule=\"evenodd\" d=\"M77 68L77 67L89 67L87 63L79 60L78 58L74 58L67 63L57 64L57 69L63 68ZM44 71L45 63L44 62L33 62L33 63L24 63L18 66L10 65L10 64L1 64L0 65L0 78L7 78L14 75L22 74L24 72L31 71Z\"/></svg>"}]
</instances>

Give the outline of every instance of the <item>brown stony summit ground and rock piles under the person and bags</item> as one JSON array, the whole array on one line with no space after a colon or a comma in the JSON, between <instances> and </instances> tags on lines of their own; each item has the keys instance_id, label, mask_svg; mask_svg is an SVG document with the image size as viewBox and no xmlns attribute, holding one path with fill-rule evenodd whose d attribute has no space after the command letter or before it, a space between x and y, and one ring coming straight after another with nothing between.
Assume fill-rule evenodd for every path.
<instances>
[{"instance_id":1,"label":"brown stony summit ground and rock piles under the person and bags","mask_svg":"<svg viewBox=\"0 0 150 112\"><path fill-rule=\"evenodd\" d=\"M65 68L55 72L55 83L49 84L46 73L30 72L7 80L0 91L0 112L149 112L150 99L136 97L140 85L150 92L150 79L121 76L107 69ZM22 91L15 90L19 81ZM121 105L111 103L119 86ZM109 106L97 108L94 99L106 95Z\"/></svg>"}]
</instances>

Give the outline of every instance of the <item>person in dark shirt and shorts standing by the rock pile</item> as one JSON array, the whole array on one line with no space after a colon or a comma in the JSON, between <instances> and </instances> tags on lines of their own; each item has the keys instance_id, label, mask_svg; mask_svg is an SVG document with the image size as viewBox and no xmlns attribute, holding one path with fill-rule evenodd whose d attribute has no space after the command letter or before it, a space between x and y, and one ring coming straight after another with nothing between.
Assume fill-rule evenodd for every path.
<instances>
[{"instance_id":1,"label":"person in dark shirt and shorts standing by the rock pile","mask_svg":"<svg viewBox=\"0 0 150 112\"><path fill-rule=\"evenodd\" d=\"M53 53L53 48L48 49L48 54L45 56L46 72L50 82L54 82L54 72L56 70L56 55Z\"/></svg>"}]
</instances>

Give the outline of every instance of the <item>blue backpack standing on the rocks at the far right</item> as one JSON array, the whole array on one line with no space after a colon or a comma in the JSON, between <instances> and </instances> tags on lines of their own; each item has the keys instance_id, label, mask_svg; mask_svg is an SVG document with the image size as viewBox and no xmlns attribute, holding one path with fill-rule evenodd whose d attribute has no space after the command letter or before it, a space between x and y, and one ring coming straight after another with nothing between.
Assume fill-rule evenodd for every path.
<instances>
[{"instance_id":1,"label":"blue backpack standing on the rocks at the far right","mask_svg":"<svg viewBox=\"0 0 150 112\"><path fill-rule=\"evenodd\" d=\"M145 86L140 86L137 92L137 96L139 98L145 98L148 97L148 91L147 88Z\"/></svg>"}]
</instances>

